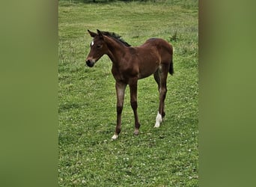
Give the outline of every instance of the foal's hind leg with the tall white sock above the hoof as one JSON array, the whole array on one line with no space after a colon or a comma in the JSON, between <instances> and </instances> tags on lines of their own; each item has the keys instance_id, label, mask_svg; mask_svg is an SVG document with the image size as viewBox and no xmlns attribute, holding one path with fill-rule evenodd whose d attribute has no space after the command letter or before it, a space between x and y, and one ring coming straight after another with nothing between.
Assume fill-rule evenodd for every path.
<instances>
[{"instance_id":1,"label":"foal's hind leg with the tall white sock above the hoof","mask_svg":"<svg viewBox=\"0 0 256 187\"><path fill-rule=\"evenodd\" d=\"M160 123L162 123L162 118L165 117L165 96L166 96L166 92L167 92L167 88L166 88L166 80L167 80L167 76L168 76L168 68L169 64L161 64L159 66L159 70L158 70L158 79L157 75L155 80L159 80L157 83L159 85L159 109L158 109L158 113L156 115L156 123L154 127L159 127ZM154 74L155 77L155 74Z\"/></svg>"}]
</instances>

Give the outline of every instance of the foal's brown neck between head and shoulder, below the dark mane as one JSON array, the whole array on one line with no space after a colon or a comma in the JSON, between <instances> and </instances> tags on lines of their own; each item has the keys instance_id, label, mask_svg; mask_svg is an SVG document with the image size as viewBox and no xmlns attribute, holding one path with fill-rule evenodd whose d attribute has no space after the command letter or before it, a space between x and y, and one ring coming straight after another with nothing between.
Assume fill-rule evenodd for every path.
<instances>
[{"instance_id":1,"label":"foal's brown neck between head and shoulder, below the dark mane","mask_svg":"<svg viewBox=\"0 0 256 187\"><path fill-rule=\"evenodd\" d=\"M106 55L109 56L113 64L118 64L124 56L124 53L127 52L127 47L110 37L106 37L106 43L109 48L109 52Z\"/></svg>"}]
</instances>

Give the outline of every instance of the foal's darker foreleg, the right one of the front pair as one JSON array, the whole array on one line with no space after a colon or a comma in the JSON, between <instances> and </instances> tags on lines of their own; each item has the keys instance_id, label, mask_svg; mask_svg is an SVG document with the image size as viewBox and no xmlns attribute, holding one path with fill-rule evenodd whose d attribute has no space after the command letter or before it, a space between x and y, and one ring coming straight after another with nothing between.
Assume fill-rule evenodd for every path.
<instances>
[{"instance_id":1,"label":"foal's darker foreleg, the right one of the front pair","mask_svg":"<svg viewBox=\"0 0 256 187\"><path fill-rule=\"evenodd\" d=\"M137 103L137 82L138 79L131 79L129 81L129 92L130 92L130 104L132 106L133 114L134 114L134 124L135 124L135 130L134 134L138 135L138 129L141 126L140 123L138 122L138 113L137 113L137 108L138 108L138 103Z\"/></svg>"}]
</instances>

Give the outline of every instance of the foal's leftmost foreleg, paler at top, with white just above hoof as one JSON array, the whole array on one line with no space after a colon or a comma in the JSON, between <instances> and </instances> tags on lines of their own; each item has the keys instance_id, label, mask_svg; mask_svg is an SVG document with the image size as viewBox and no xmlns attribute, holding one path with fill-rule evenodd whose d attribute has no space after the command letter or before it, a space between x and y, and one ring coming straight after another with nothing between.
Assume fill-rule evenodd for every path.
<instances>
[{"instance_id":1,"label":"foal's leftmost foreleg, paler at top, with white just above hoof","mask_svg":"<svg viewBox=\"0 0 256 187\"><path fill-rule=\"evenodd\" d=\"M115 90L117 93L117 126L115 127L115 134L112 136L112 139L118 138L119 133L121 132L121 116L124 107L124 93L127 85L121 82L115 82Z\"/></svg>"}]
</instances>

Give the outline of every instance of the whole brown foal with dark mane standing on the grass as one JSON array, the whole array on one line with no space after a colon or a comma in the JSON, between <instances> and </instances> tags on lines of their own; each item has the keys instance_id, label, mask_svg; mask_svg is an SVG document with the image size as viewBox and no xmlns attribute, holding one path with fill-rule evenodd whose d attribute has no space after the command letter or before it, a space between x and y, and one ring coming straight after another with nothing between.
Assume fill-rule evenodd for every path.
<instances>
[{"instance_id":1,"label":"whole brown foal with dark mane standing on the grass","mask_svg":"<svg viewBox=\"0 0 256 187\"><path fill-rule=\"evenodd\" d=\"M159 90L159 109L156 116L155 127L159 127L162 117L165 117L165 95L166 79L168 72L174 73L172 62L172 46L165 40L150 38L143 45L131 47L121 39L118 34L106 31L97 33L89 31L94 40L91 42L91 51L86 64L93 67L94 64L103 56L108 55L112 60L112 75L115 78L115 89L117 93L117 126L112 139L118 138L121 132L121 114L124 105L124 93L127 85L130 90L130 104L135 117L135 131L141 126L138 122L137 114L137 82L153 74Z\"/></svg>"}]
</instances>

